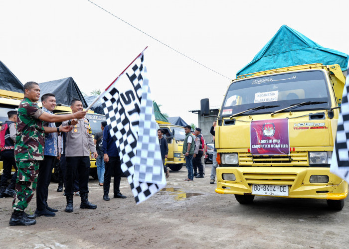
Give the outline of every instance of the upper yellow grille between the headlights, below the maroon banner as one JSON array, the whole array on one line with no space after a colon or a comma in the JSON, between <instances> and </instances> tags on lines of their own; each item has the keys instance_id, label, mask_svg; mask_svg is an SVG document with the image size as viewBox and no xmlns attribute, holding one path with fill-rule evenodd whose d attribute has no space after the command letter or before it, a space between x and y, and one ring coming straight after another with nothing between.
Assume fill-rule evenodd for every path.
<instances>
[{"instance_id":1,"label":"upper yellow grille between the headlights, below the maroon banner","mask_svg":"<svg viewBox=\"0 0 349 249\"><path fill-rule=\"evenodd\" d=\"M240 166L308 166L308 153L305 151L290 152L290 155L252 155L239 153Z\"/></svg>"}]
</instances>

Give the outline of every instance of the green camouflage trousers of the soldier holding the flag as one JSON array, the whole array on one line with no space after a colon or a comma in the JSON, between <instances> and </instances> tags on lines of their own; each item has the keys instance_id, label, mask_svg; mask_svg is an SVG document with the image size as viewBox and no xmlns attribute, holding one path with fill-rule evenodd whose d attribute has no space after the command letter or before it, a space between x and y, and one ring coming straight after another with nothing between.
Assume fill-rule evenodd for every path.
<instances>
[{"instance_id":1,"label":"green camouflage trousers of the soldier holding the flag","mask_svg":"<svg viewBox=\"0 0 349 249\"><path fill-rule=\"evenodd\" d=\"M36 189L39 161L20 161L16 162L16 165L18 174L12 208L23 211L33 198Z\"/></svg>"}]
</instances>

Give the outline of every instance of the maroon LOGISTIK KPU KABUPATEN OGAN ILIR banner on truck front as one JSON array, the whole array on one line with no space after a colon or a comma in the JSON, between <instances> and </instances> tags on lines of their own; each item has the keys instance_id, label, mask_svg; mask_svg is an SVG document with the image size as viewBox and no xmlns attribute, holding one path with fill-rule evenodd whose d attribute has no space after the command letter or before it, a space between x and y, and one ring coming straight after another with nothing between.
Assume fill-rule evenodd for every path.
<instances>
[{"instance_id":1,"label":"maroon LOGISTIK KPU KABUPATEN OGAN ILIR banner on truck front","mask_svg":"<svg viewBox=\"0 0 349 249\"><path fill-rule=\"evenodd\" d=\"M289 155L288 119L251 122L250 149L253 155Z\"/></svg>"}]
</instances>

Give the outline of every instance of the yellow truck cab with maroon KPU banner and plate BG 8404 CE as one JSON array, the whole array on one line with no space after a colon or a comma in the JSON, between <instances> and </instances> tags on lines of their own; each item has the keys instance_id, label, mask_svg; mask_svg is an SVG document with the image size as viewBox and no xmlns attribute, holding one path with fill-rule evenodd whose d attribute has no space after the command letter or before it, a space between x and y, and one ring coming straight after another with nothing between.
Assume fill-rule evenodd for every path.
<instances>
[{"instance_id":1,"label":"yellow truck cab with maroon KPU banner and plate BG 8404 CE","mask_svg":"<svg viewBox=\"0 0 349 249\"><path fill-rule=\"evenodd\" d=\"M330 173L345 76L339 65L306 64L240 75L217 119L216 193L326 199L341 210L348 183ZM201 114L209 114L208 99Z\"/></svg>"}]
</instances>

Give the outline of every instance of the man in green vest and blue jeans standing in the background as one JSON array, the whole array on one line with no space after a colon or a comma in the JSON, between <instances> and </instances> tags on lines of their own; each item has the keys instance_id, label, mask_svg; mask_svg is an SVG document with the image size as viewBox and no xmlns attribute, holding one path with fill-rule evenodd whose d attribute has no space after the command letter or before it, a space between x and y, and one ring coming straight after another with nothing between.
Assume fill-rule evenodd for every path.
<instances>
[{"instance_id":1,"label":"man in green vest and blue jeans standing in the background","mask_svg":"<svg viewBox=\"0 0 349 249\"><path fill-rule=\"evenodd\" d=\"M183 144L183 154L185 155L186 169L188 170L188 178L184 179L185 182L191 182L194 179L194 170L192 168L192 158L194 154L195 145L193 145L194 136L190 132L191 126L184 126L185 138Z\"/></svg>"}]
</instances>

